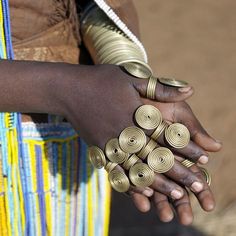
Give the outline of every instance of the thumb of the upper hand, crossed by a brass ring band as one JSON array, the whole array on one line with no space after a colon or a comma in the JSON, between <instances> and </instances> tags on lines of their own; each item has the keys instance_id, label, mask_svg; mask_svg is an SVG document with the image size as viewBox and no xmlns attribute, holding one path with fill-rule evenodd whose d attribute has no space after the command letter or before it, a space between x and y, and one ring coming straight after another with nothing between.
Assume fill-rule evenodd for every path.
<instances>
[{"instance_id":1,"label":"thumb of the upper hand, crossed by a brass ring band","mask_svg":"<svg viewBox=\"0 0 236 236\"><path fill-rule=\"evenodd\" d=\"M134 86L142 97L147 97L148 80L134 78ZM155 91L155 100L159 102L180 102L193 95L193 88L191 86L176 88L159 82L157 82Z\"/></svg>"}]
</instances>

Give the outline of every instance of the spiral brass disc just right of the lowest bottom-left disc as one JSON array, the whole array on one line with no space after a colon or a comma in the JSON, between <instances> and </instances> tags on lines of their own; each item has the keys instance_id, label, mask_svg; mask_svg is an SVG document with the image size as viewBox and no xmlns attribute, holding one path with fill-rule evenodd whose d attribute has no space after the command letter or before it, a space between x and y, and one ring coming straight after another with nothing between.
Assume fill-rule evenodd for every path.
<instances>
[{"instance_id":1,"label":"spiral brass disc just right of the lowest bottom-left disc","mask_svg":"<svg viewBox=\"0 0 236 236\"><path fill-rule=\"evenodd\" d=\"M137 163L129 170L130 181L138 187L148 187L154 181L155 174L145 163Z\"/></svg>"}]
</instances>

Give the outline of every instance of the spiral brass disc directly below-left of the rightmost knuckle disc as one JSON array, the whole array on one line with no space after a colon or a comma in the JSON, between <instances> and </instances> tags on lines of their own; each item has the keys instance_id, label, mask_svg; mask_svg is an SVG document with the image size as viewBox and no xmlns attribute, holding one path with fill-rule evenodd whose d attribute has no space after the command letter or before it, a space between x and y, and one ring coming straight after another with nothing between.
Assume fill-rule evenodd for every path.
<instances>
[{"instance_id":1,"label":"spiral brass disc directly below-left of the rightmost knuckle disc","mask_svg":"<svg viewBox=\"0 0 236 236\"><path fill-rule=\"evenodd\" d=\"M148 155L147 163L154 172L165 173L173 167L175 158L168 148L159 147Z\"/></svg>"}]
</instances>

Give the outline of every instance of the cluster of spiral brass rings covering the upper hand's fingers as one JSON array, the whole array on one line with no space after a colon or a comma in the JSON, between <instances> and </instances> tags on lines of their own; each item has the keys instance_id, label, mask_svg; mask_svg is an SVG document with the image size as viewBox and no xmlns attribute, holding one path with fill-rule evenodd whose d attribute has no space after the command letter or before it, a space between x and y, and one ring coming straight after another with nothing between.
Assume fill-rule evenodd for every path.
<instances>
[{"instance_id":1,"label":"cluster of spiral brass rings covering the upper hand's fingers","mask_svg":"<svg viewBox=\"0 0 236 236\"><path fill-rule=\"evenodd\" d=\"M188 129L177 123L169 125L154 106L140 106L134 119L137 126L127 127L118 138L110 139L104 152L94 146L88 152L94 167L104 167L111 186L119 192L127 191L131 184L150 186L155 173L166 173L173 167L175 160L171 150L157 144L161 134L165 134L170 146L175 148L183 147L189 141ZM152 131L150 139L145 131ZM183 164L190 166L191 162L185 160Z\"/></svg>"}]
</instances>

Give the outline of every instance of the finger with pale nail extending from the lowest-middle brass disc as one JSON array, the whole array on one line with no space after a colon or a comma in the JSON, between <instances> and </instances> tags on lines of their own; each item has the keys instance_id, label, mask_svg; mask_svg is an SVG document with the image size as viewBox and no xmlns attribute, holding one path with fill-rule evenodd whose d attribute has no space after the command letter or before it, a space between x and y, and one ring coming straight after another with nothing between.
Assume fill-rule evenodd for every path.
<instances>
[{"instance_id":1,"label":"finger with pale nail extending from the lowest-middle brass disc","mask_svg":"<svg viewBox=\"0 0 236 236\"><path fill-rule=\"evenodd\" d=\"M183 188L175 182L169 180L162 174L156 174L154 182L150 186L153 190L165 194L172 199L183 197Z\"/></svg>"}]
</instances>

